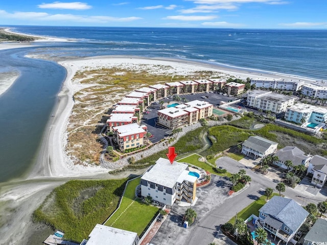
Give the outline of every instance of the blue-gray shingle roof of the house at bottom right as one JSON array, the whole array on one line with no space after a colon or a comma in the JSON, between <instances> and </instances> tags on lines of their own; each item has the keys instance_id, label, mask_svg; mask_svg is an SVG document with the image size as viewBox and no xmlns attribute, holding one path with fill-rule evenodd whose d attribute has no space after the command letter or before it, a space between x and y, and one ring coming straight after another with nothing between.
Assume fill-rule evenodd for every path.
<instances>
[{"instance_id":1,"label":"blue-gray shingle roof of the house at bottom right","mask_svg":"<svg viewBox=\"0 0 327 245\"><path fill-rule=\"evenodd\" d=\"M274 196L259 211L281 220L292 231L296 231L309 215L308 211L294 200Z\"/></svg>"}]
</instances>

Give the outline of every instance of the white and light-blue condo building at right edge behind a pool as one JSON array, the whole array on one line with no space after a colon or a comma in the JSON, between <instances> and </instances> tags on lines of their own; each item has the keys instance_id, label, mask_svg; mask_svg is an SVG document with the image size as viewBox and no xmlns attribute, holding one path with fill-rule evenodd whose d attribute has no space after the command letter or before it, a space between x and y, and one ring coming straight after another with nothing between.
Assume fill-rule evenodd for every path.
<instances>
[{"instance_id":1,"label":"white and light-blue condo building at right edge behind a pool","mask_svg":"<svg viewBox=\"0 0 327 245\"><path fill-rule=\"evenodd\" d=\"M301 125L308 122L319 125L325 123L327 119L327 109L320 106L297 103L287 108L285 119Z\"/></svg>"}]
</instances>

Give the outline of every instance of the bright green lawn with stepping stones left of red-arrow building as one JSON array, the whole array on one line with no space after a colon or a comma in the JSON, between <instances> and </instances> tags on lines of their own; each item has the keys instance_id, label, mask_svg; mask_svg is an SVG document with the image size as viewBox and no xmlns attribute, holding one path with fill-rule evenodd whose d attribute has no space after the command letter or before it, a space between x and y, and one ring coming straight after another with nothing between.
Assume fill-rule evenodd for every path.
<instances>
[{"instance_id":1,"label":"bright green lawn with stepping stones left of red-arrow building","mask_svg":"<svg viewBox=\"0 0 327 245\"><path fill-rule=\"evenodd\" d=\"M141 177L130 181L126 187L120 208L106 222L112 226L141 235L151 219L158 212L158 208L144 204L140 199L135 199L135 188Z\"/></svg>"}]
</instances>

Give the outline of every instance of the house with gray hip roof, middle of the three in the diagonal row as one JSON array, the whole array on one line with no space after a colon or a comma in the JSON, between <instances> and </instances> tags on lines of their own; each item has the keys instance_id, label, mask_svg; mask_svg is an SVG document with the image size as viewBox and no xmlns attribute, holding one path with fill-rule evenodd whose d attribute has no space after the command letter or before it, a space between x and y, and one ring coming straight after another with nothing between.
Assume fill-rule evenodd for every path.
<instances>
[{"instance_id":1,"label":"house with gray hip roof, middle of the three in the diagonal row","mask_svg":"<svg viewBox=\"0 0 327 245\"><path fill-rule=\"evenodd\" d=\"M273 164L282 167L284 169L288 169L288 167L285 165L285 162L287 160L292 161L293 166L298 165L305 165L308 167L309 165L309 156L305 155L305 152L302 152L300 149L298 149L296 146L286 146L281 150L278 150L274 156L278 157L277 161L273 161Z\"/></svg>"}]
</instances>

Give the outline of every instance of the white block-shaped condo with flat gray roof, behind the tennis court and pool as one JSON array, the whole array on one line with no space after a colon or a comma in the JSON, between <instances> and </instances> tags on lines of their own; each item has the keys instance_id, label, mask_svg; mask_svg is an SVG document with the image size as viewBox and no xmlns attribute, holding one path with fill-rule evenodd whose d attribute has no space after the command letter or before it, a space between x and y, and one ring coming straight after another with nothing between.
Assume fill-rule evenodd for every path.
<instances>
[{"instance_id":1,"label":"white block-shaped condo with flat gray roof, behind the tennis court and pool","mask_svg":"<svg viewBox=\"0 0 327 245\"><path fill-rule=\"evenodd\" d=\"M249 92L246 101L248 106L277 114L286 111L294 102L294 97L262 90Z\"/></svg>"}]
</instances>

